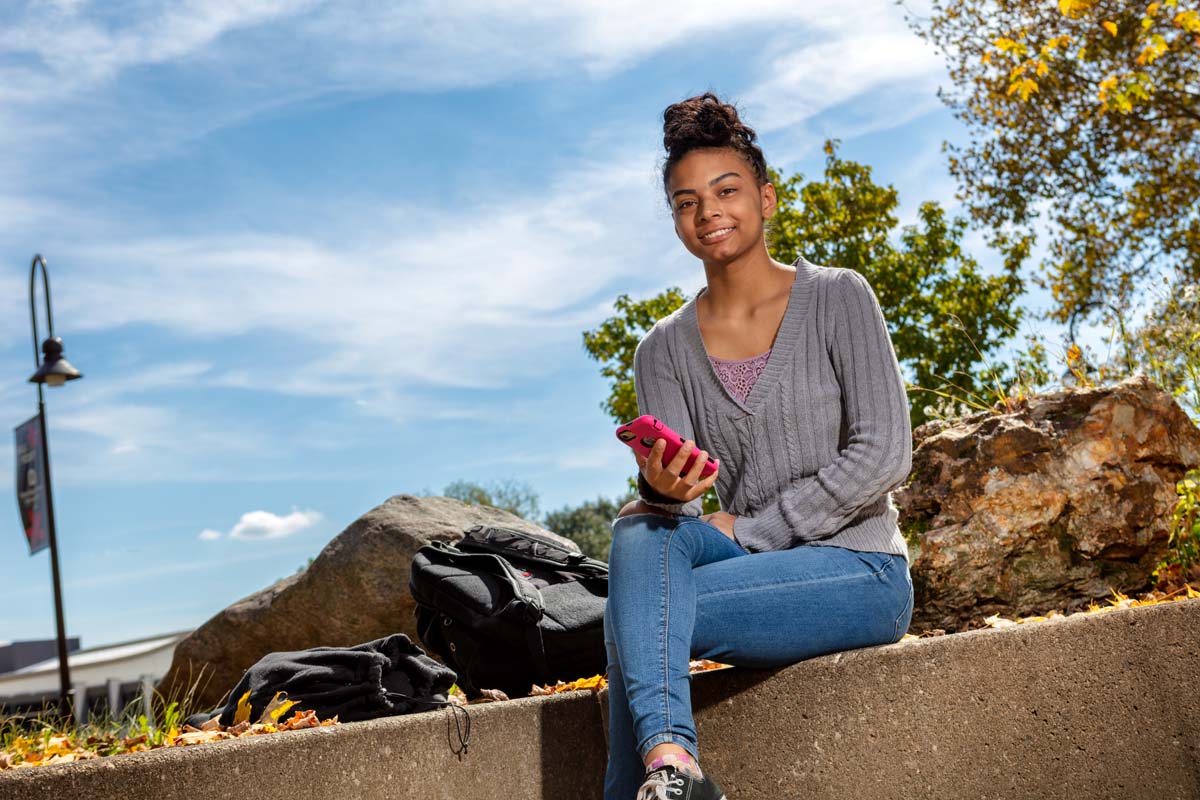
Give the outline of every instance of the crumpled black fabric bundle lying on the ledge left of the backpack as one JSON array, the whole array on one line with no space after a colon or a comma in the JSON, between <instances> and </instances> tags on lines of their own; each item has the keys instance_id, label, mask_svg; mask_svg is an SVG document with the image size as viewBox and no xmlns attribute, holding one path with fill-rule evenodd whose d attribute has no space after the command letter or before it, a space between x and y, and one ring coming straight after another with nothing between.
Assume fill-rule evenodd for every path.
<instances>
[{"instance_id":1,"label":"crumpled black fabric bundle lying on the ledge left of the backpack","mask_svg":"<svg viewBox=\"0 0 1200 800\"><path fill-rule=\"evenodd\" d=\"M233 724L238 700L247 691L251 722L258 721L276 692L298 702L293 710L311 709L322 720L336 715L342 722L356 722L428 711L446 704L455 679L454 670L403 633L353 648L270 652L242 674L224 708L192 715L187 722L199 727L220 714L221 724Z\"/></svg>"}]
</instances>

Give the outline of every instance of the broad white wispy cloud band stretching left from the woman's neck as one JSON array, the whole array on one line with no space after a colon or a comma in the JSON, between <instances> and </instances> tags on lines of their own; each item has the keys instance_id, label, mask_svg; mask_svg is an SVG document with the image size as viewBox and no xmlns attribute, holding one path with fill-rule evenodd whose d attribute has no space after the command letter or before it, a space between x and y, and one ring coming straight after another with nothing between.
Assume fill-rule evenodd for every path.
<instances>
[{"instance_id":1,"label":"broad white wispy cloud band stretching left from the woman's neck","mask_svg":"<svg viewBox=\"0 0 1200 800\"><path fill-rule=\"evenodd\" d=\"M506 386L551 369L548 354L577 351L611 287L662 285L644 270L673 241L648 187L654 156L610 155L523 197L509 190L499 206L355 212L349 245L326 243L328 233L144 236L113 219L108 240L64 245L59 260L74 266L55 312L76 335L149 324L290 343L265 359L262 348L241 361L232 353L221 366L192 359L154 378L162 384L374 398L367 404L400 386ZM661 281L695 272L688 261L667 260ZM114 386L136 391L140 380L131 373Z\"/></svg>"}]
</instances>

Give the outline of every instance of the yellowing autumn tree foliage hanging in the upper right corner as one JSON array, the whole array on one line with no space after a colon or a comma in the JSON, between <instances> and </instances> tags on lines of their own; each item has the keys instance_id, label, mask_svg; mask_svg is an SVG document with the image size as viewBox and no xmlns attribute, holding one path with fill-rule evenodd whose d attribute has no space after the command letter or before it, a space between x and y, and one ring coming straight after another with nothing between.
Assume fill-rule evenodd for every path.
<instances>
[{"instance_id":1,"label":"yellowing autumn tree foliage hanging in the upper right corner","mask_svg":"<svg viewBox=\"0 0 1200 800\"><path fill-rule=\"evenodd\" d=\"M952 174L991 243L1024 260L1048 317L1112 324L1148 281L1200 279L1195 2L934 0L910 24L946 55L967 127Z\"/></svg>"}]
</instances>

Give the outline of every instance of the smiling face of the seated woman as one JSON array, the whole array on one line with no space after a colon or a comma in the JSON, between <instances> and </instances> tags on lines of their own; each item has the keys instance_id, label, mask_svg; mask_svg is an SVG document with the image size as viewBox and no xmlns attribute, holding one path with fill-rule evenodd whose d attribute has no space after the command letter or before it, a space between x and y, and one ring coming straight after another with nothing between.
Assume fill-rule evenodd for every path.
<instances>
[{"instance_id":1,"label":"smiling face of the seated woman","mask_svg":"<svg viewBox=\"0 0 1200 800\"><path fill-rule=\"evenodd\" d=\"M775 187L758 186L736 150L692 150L667 185L676 235L706 264L728 264L763 247L763 223L775 212Z\"/></svg>"}]
</instances>

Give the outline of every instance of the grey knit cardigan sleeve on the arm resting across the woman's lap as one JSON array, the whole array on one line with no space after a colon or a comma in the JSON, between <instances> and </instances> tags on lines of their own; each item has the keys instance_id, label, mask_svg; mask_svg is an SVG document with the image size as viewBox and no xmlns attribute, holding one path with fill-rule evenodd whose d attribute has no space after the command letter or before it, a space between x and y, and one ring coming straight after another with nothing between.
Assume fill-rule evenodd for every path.
<instances>
[{"instance_id":1,"label":"grey knit cardigan sleeve on the arm resting across the woman's lap","mask_svg":"<svg viewBox=\"0 0 1200 800\"><path fill-rule=\"evenodd\" d=\"M791 482L755 516L734 521L734 535L751 552L833 536L912 469L908 398L875 291L850 269L830 291L829 355L848 440L816 474Z\"/></svg>"}]
</instances>

